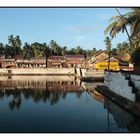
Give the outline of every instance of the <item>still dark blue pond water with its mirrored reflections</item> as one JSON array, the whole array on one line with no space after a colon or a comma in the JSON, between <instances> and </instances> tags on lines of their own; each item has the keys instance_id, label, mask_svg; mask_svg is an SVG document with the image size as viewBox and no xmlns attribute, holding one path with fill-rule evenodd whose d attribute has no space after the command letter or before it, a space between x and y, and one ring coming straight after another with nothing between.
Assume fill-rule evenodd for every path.
<instances>
[{"instance_id":1,"label":"still dark blue pond water with its mirrored reflections","mask_svg":"<svg viewBox=\"0 0 140 140\"><path fill-rule=\"evenodd\" d=\"M0 77L0 132L140 132L135 118L66 76Z\"/></svg>"}]
</instances>

